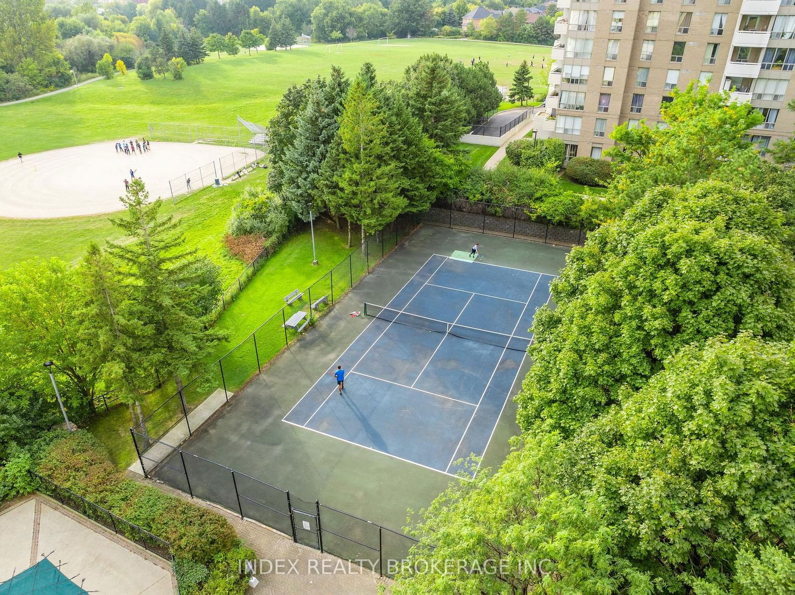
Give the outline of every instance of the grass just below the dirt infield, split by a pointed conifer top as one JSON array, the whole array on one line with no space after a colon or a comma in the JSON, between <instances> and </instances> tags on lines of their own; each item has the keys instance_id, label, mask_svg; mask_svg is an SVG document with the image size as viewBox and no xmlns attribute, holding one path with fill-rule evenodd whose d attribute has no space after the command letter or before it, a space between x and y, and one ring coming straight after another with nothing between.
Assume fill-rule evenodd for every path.
<instances>
[{"instance_id":1,"label":"grass just below the dirt infield, split by a pointed conifer top","mask_svg":"<svg viewBox=\"0 0 795 595\"><path fill-rule=\"evenodd\" d=\"M266 172L257 169L241 181L228 186L206 187L179 199L165 199L161 213L173 214L182 222L186 245L198 249L221 268L223 287L231 284L245 265L227 254L223 236L232 205L246 184L262 182ZM0 218L0 269L33 257L57 256L76 263L83 257L88 242L104 245L122 239L122 232L109 219L112 214L55 219Z\"/></svg>"}]
</instances>

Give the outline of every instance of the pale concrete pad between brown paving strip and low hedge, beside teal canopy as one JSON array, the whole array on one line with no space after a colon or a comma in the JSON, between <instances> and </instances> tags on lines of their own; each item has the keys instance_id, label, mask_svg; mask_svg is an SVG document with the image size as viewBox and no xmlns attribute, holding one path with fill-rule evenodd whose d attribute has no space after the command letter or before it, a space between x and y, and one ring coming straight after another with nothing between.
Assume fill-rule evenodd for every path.
<instances>
[{"instance_id":1,"label":"pale concrete pad between brown paving strip and low hedge, beside teal canopy","mask_svg":"<svg viewBox=\"0 0 795 595\"><path fill-rule=\"evenodd\" d=\"M52 554L51 554L52 552ZM41 500L37 558L50 562L83 589L114 595L173 595L168 570L50 508Z\"/></svg>"}]
</instances>

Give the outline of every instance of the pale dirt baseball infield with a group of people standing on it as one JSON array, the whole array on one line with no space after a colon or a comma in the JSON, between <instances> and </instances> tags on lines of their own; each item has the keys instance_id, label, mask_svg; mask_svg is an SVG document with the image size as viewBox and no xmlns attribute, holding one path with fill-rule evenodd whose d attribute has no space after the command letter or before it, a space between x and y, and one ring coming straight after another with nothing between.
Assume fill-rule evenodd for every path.
<instances>
[{"instance_id":1,"label":"pale dirt baseball infield with a group of people standing on it","mask_svg":"<svg viewBox=\"0 0 795 595\"><path fill-rule=\"evenodd\" d=\"M118 211L122 207L118 197L124 194L130 169L144 180L152 198L171 198L169 180L241 150L152 141L149 153L125 155L116 153L114 143L23 155L21 163L18 158L0 162L0 217L52 218Z\"/></svg>"}]
</instances>

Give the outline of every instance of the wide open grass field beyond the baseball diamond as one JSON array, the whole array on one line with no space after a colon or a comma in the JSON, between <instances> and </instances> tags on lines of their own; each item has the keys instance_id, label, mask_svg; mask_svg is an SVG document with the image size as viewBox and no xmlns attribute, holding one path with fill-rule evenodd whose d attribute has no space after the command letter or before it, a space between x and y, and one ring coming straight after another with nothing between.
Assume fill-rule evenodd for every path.
<instances>
[{"instance_id":1,"label":"wide open grass field beyond the baseball diamond","mask_svg":"<svg viewBox=\"0 0 795 595\"><path fill-rule=\"evenodd\" d=\"M190 122L235 126L239 114L266 124L285 89L316 75L328 75L332 64L355 76L363 62L374 64L383 79L401 77L405 67L429 52L447 54L464 64L473 57L489 62L497 83L510 84L518 64L535 54L549 59L551 48L466 40L394 40L342 44L341 52L312 44L286 52L209 56L191 66L185 78L156 77L141 81L134 72L52 95L0 107L3 122L0 160L73 145L146 136L147 122ZM549 61L549 60L548 60ZM508 64L506 66L506 63ZM537 70L537 69L533 69ZM544 90L536 89L537 93Z\"/></svg>"}]
</instances>

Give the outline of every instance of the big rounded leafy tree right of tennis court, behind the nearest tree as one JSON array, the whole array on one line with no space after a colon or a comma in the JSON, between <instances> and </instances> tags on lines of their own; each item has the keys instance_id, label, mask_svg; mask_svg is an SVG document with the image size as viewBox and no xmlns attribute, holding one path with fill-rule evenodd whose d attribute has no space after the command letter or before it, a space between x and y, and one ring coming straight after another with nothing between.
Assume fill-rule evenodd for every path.
<instances>
[{"instance_id":1,"label":"big rounded leafy tree right of tennis court, behind the nearest tree","mask_svg":"<svg viewBox=\"0 0 795 595\"><path fill-rule=\"evenodd\" d=\"M792 338L795 266L781 222L764 196L704 181L649 191L591 232L553 285L556 309L537 312L520 425L576 431L693 342Z\"/></svg>"}]
</instances>

